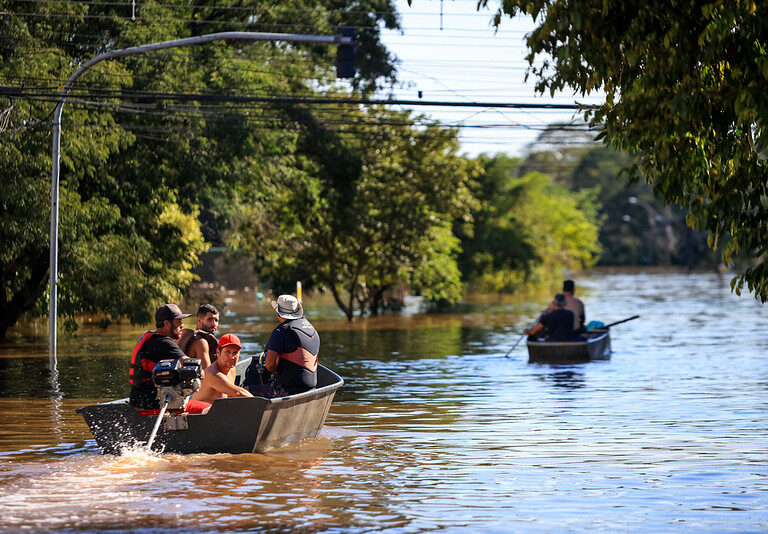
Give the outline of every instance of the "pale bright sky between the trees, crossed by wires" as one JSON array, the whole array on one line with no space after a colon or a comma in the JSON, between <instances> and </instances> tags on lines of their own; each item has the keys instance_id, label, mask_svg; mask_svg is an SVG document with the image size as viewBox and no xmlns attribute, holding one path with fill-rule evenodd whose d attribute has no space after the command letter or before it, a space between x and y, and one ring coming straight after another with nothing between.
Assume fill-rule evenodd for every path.
<instances>
[{"instance_id":1,"label":"pale bright sky between the trees, crossed by wires","mask_svg":"<svg viewBox=\"0 0 768 534\"><path fill-rule=\"evenodd\" d=\"M530 17L505 17L494 31L498 5L477 10L475 0L398 0L402 31L383 32L383 42L400 63L400 83L392 96L451 102L599 103L601 95L571 93L537 96L534 77L525 82L528 62L525 34ZM442 10L442 21L441 21ZM441 28L442 23L442 28ZM463 125L462 152L522 155L541 130L554 122L579 120L572 111L499 108L418 107L415 111L443 123ZM580 122L583 124L583 122Z\"/></svg>"}]
</instances>

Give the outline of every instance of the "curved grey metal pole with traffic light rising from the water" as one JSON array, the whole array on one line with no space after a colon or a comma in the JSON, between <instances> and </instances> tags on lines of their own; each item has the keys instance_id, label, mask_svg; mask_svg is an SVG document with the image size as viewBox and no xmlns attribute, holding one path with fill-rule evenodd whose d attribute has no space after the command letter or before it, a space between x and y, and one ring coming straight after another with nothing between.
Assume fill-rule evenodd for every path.
<instances>
[{"instance_id":1,"label":"curved grey metal pole with traffic light rising from the water","mask_svg":"<svg viewBox=\"0 0 768 534\"><path fill-rule=\"evenodd\" d=\"M64 88L61 90L59 103L53 115L53 146L52 146L52 168L51 168L51 257L50 257L50 301L48 309L48 348L51 359L52 376L55 377L56 371L56 318L58 315L58 240L59 240L59 168L61 152L61 112L64 107L64 101L67 98L69 90L75 81L88 69L107 59L115 59L125 56L155 52L168 48L180 48L192 46L218 40L242 40L242 41L291 41L300 43L325 43L335 44L341 52L340 64L345 70L340 72L344 77L354 75L354 69L350 73L349 65L354 59L354 50L350 48L354 45L354 33L350 28L340 28L338 35L298 35L288 33L260 33L260 32L218 32L186 39L174 39L172 41L163 41L146 45L132 46L118 50L104 52L86 61L69 77ZM351 54L351 56L350 56Z\"/></svg>"}]
</instances>

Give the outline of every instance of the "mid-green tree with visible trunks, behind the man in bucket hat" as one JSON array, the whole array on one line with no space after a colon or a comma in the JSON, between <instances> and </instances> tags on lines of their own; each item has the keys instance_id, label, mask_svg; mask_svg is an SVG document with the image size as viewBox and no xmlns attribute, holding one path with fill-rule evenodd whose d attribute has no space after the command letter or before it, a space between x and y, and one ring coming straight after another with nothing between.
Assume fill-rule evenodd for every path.
<instances>
[{"instance_id":1,"label":"mid-green tree with visible trunks, behind the man in bucket hat","mask_svg":"<svg viewBox=\"0 0 768 534\"><path fill-rule=\"evenodd\" d=\"M233 244L277 282L327 288L348 319L377 313L398 283L457 300L450 223L468 214L474 166L457 156L456 132L409 112L345 112L349 122L335 127L305 121L301 172L272 178Z\"/></svg>"}]
</instances>

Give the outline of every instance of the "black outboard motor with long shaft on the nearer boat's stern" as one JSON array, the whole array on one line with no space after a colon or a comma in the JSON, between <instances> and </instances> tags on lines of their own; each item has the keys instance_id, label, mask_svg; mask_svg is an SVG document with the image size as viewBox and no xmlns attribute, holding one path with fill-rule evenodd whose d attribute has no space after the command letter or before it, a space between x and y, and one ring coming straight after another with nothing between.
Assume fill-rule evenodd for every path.
<instances>
[{"instance_id":1,"label":"black outboard motor with long shaft on the nearer boat's stern","mask_svg":"<svg viewBox=\"0 0 768 534\"><path fill-rule=\"evenodd\" d=\"M160 400L160 413L152 428L152 433L147 440L147 448L152 448L152 442L155 441L157 430L160 428L160 422L163 420L165 411L183 410L189 396L200 389L202 382L202 366L200 360L196 358L185 358L179 360L160 360L152 370L152 381L157 387L157 398Z\"/></svg>"}]
</instances>

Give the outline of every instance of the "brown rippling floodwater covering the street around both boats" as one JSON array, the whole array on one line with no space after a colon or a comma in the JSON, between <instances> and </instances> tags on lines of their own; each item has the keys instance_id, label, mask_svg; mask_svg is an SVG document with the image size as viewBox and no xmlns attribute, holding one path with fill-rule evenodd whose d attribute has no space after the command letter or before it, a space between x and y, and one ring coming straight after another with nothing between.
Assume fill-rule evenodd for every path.
<instances>
[{"instance_id":1,"label":"brown rippling floodwater covering the street around both boats","mask_svg":"<svg viewBox=\"0 0 768 534\"><path fill-rule=\"evenodd\" d=\"M766 532L768 307L713 274L577 279L611 360L528 364L546 304L348 325L306 304L345 379L322 435L266 454L99 454L75 409L124 397L143 331L0 345L0 530ZM257 353L275 324L245 301L219 333Z\"/></svg>"}]
</instances>

